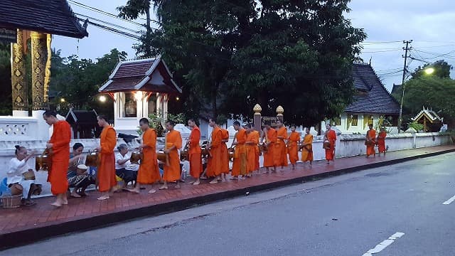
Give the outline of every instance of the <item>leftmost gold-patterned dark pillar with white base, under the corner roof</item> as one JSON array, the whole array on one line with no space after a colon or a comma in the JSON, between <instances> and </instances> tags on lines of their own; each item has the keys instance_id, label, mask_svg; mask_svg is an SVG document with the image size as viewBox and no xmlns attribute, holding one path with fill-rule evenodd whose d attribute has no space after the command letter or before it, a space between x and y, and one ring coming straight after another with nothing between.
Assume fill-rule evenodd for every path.
<instances>
[{"instance_id":1,"label":"leftmost gold-patterned dark pillar with white base, under the corner roof","mask_svg":"<svg viewBox=\"0 0 455 256\"><path fill-rule=\"evenodd\" d=\"M11 96L13 116L28 117L28 95L26 85L26 63L23 59L23 34L17 30L17 42L11 43Z\"/></svg>"}]
</instances>

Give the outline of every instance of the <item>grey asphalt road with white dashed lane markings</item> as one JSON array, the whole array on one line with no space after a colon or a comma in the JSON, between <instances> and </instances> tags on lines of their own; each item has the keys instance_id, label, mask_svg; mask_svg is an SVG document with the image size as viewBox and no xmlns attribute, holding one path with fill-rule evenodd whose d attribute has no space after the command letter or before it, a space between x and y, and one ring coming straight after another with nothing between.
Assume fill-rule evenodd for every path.
<instances>
[{"instance_id":1,"label":"grey asphalt road with white dashed lane markings","mask_svg":"<svg viewBox=\"0 0 455 256\"><path fill-rule=\"evenodd\" d=\"M453 153L418 159L0 255L455 255L454 167Z\"/></svg>"}]
</instances>

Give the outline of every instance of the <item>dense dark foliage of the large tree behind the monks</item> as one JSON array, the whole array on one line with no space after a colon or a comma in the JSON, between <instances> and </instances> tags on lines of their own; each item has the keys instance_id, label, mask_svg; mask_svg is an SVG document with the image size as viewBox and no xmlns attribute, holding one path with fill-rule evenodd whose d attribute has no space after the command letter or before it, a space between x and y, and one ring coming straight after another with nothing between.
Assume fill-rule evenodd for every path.
<instances>
[{"instance_id":1,"label":"dense dark foliage of the large tree behind the monks","mask_svg":"<svg viewBox=\"0 0 455 256\"><path fill-rule=\"evenodd\" d=\"M161 54L183 87L183 110L248 117L282 105L287 122L316 124L353 96L351 68L362 29L340 1L153 1L161 28L139 55Z\"/></svg>"}]
</instances>

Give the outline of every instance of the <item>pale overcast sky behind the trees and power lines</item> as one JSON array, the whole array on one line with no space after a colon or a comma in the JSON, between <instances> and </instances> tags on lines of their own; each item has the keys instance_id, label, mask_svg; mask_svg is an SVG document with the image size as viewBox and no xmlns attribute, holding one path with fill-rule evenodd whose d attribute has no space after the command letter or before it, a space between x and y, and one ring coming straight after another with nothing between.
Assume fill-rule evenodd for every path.
<instances>
[{"instance_id":1,"label":"pale overcast sky behind the trees and power lines","mask_svg":"<svg viewBox=\"0 0 455 256\"><path fill-rule=\"evenodd\" d=\"M77 0L69 1L77 14L98 18L134 31L140 26L112 18L97 11L82 8L80 4L94 7L110 14L118 14L117 6L122 6L127 0ZM434 62L444 59L455 65L455 2L451 0L422 1L422 0L353 0L349 4L350 13L346 17L356 28L364 28L368 38L363 43L363 53L360 55L369 62L380 76L387 89L391 90L393 83L401 84L402 68L405 51L404 40L413 40L410 55L419 60ZM90 19L93 22L100 23ZM139 18L137 23L145 23ZM80 40L54 36L53 48L62 50L61 55L78 55L80 58L100 58L109 53L112 48L124 50L128 58L134 58L132 48L134 39L110 33L101 28L89 25L88 38ZM424 62L411 60L409 70L414 70Z\"/></svg>"}]
</instances>

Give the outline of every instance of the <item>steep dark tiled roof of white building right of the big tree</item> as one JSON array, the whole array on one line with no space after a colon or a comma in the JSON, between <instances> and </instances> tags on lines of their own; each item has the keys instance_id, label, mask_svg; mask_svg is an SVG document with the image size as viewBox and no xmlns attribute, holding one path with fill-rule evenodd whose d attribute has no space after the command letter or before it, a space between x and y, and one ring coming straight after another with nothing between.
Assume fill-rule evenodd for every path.
<instances>
[{"instance_id":1,"label":"steep dark tiled roof of white building right of the big tree","mask_svg":"<svg viewBox=\"0 0 455 256\"><path fill-rule=\"evenodd\" d=\"M399 114L400 105L385 89L373 68L368 64L353 65L354 87L358 95L345 112Z\"/></svg>"}]
</instances>

